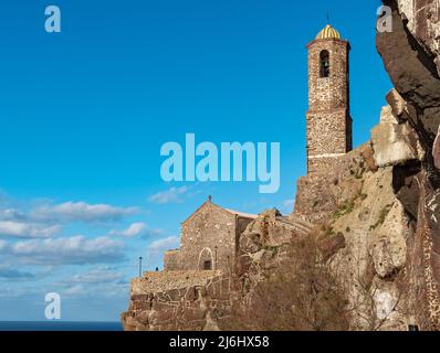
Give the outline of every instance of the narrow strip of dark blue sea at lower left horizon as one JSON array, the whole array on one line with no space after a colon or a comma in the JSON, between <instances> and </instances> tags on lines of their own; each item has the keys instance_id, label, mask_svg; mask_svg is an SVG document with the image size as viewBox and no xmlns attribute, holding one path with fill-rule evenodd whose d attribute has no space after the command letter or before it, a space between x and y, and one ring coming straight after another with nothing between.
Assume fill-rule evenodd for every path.
<instances>
[{"instance_id":1,"label":"narrow strip of dark blue sea at lower left horizon","mask_svg":"<svg viewBox=\"0 0 440 353\"><path fill-rule=\"evenodd\" d=\"M0 331L123 331L121 322L0 321Z\"/></svg>"}]
</instances>

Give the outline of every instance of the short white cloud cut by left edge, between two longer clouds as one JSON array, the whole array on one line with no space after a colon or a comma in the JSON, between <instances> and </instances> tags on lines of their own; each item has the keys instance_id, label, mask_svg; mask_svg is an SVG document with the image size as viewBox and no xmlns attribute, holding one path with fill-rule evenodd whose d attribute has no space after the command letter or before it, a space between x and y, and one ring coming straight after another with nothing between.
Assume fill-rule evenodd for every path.
<instances>
[{"instance_id":1,"label":"short white cloud cut by left edge, between two longer clouds","mask_svg":"<svg viewBox=\"0 0 440 353\"><path fill-rule=\"evenodd\" d=\"M23 223L13 221L0 221L0 235L14 237L51 237L60 233L61 226L43 226L34 223Z\"/></svg>"}]
</instances>

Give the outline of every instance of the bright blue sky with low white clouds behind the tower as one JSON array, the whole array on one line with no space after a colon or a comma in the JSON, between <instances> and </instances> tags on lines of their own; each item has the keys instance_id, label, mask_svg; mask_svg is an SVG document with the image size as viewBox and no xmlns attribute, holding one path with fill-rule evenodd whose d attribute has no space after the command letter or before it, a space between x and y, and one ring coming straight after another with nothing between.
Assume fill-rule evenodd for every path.
<instances>
[{"instance_id":1,"label":"bright blue sky with low white clouds behind the tower","mask_svg":"<svg viewBox=\"0 0 440 353\"><path fill-rule=\"evenodd\" d=\"M44 9L62 33L44 31ZM179 223L212 194L291 212L305 174L305 45L331 23L352 43L354 142L391 84L375 49L377 1L15 0L0 18L0 320L116 321L128 281L161 266ZM163 143L281 142L281 188L165 183Z\"/></svg>"}]
</instances>

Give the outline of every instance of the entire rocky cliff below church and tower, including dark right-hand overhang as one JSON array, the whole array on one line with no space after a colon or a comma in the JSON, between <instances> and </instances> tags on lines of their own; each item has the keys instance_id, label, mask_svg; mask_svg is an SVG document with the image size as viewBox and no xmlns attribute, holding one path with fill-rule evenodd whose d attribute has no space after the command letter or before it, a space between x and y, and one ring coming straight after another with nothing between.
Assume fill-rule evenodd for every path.
<instances>
[{"instance_id":1,"label":"entire rocky cliff below church and tower, including dark right-hand overhang","mask_svg":"<svg viewBox=\"0 0 440 353\"><path fill-rule=\"evenodd\" d=\"M298 180L292 215L249 224L234 276L134 280L126 330L440 329L440 1L384 4L395 89L370 141Z\"/></svg>"}]
</instances>

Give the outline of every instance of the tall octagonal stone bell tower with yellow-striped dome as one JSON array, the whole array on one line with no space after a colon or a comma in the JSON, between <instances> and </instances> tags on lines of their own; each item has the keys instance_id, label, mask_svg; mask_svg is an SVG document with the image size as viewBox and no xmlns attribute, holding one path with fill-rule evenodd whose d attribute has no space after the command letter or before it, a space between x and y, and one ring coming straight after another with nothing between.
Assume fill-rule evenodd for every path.
<instances>
[{"instance_id":1,"label":"tall octagonal stone bell tower with yellow-striped dome","mask_svg":"<svg viewBox=\"0 0 440 353\"><path fill-rule=\"evenodd\" d=\"M325 172L352 150L349 43L326 25L308 43L307 173Z\"/></svg>"}]
</instances>

